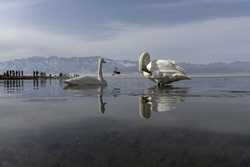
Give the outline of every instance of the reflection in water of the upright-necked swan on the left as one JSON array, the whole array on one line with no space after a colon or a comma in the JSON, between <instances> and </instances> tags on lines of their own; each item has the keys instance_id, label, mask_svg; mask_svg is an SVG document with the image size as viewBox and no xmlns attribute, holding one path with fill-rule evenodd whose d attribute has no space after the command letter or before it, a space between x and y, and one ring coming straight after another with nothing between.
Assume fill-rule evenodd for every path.
<instances>
[{"instance_id":1,"label":"reflection in water of the upright-necked swan on the left","mask_svg":"<svg viewBox=\"0 0 250 167\"><path fill-rule=\"evenodd\" d=\"M102 114L105 113L105 106L106 106L106 102L104 102L103 100L103 89L105 88L105 86L97 86L97 85L93 85L93 86L69 86L66 85L64 87L65 90L78 90L81 91L81 95L97 95L97 100L98 100L98 111Z\"/></svg>"}]
</instances>

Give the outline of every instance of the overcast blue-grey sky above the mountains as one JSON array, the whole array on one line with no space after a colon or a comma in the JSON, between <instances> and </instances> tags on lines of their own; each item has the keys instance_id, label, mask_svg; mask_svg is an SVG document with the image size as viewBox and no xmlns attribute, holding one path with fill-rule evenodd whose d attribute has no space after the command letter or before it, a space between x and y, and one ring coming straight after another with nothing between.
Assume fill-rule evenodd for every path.
<instances>
[{"instance_id":1,"label":"overcast blue-grey sky above the mountains","mask_svg":"<svg viewBox=\"0 0 250 167\"><path fill-rule=\"evenodd\" d=\"M250 0L0 0L0 61L250 61Z\"/></svg>"}]
</instances>

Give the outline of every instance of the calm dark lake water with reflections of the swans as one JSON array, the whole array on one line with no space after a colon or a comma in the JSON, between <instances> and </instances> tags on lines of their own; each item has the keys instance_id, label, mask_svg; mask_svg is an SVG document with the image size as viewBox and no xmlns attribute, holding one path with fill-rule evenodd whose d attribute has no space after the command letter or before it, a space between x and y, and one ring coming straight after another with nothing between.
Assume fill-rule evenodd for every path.
<instances>
[{"instance_id":1,"label":"calm dark lake water with reflections of the swans","mask_svg":"<svg viewBox=\"0 0 250 167\"><path fill-rule=\"evenodd\" d=\"M249 166L250 78L0 81L0 166Z\"/></svg>"}]
</instances>

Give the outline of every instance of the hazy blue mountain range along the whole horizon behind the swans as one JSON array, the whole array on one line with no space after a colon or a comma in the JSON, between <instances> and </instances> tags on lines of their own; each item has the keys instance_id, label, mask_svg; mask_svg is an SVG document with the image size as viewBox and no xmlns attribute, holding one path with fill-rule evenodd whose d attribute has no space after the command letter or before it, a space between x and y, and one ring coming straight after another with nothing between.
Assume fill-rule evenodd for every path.
<instances>
[{"instance_id":1,"label":"hazy blue mountain range along the whole horizon behind the swans","mask_svg":"<svg viewBox=\"0 0 250 167\"><path fill-rule=\"evenodd\" d=\"M122 73L136 73L138 64L130 60L105 59L104 72L111 73L117 67ZM39 70L47 73L94 73L97 57L29 57L0 62L0 71L23 70L32 73ZM250 73L250 62L192 64L177 63L189 74L201 73Z\"/></svg>"}]
</instances>

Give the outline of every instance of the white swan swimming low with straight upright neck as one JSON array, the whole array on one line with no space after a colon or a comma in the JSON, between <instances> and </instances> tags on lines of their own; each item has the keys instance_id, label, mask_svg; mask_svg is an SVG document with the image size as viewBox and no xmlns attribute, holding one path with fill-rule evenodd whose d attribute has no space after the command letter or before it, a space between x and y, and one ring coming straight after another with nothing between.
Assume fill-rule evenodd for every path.
<instances>
[{"instance_id":1,"label":"white swan swimming low with straight upright neck","mask_svg":"<svg viewBox=\"0 0 250 167\"><path fill-rule=\"evenodd\" d=\"M97 77L94 76L83 76L65 80L64 83L67 86L106 86L107 82L103 79L102 75L102 64L106 63L103 58L98 58L97 65L98 65L98 73Z\"/></svg>"}]
</instances>

